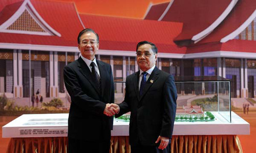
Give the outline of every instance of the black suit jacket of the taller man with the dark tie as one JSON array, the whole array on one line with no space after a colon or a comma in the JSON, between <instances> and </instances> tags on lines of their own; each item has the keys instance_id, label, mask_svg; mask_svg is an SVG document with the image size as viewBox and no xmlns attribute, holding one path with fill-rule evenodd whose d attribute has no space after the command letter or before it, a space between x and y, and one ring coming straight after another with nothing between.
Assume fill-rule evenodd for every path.
<instances>
[{"instance_id":1,"label":"black suit jacket of the taller man with the dark tie","mask_svg":"<svg viewBox=\"0 0 256 153\"><path fill-rule=\"evenodd\" d=\"M110 139L113 117L103 114L107 103L114 103L114 82L109 64L97 60L101 94L93 75L80 57L64 68L65 86L71 97L68 137L95 141Z\"/></svg>"}]
</instances>

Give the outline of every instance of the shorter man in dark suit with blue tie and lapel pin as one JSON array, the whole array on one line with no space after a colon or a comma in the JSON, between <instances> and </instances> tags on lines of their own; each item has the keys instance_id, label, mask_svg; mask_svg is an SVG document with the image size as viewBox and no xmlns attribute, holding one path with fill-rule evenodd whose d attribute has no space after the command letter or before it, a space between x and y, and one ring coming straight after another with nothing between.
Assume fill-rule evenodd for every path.
<instances>
[{"instance_id":1,"label":"shorter man in dark suit with blue tie and lapel pin","mask_svg":"<svg viewBox=\"0 0 256 153\"><path fill-rule=\"evenodd\" d=\"M157 47L142 41L137 45L139 71L129 75L125 98L116 117L131 111L130 144L134 152L170 152L176 114L177 90L174 77L159 70Z\"/></svg>"}]
</instances>

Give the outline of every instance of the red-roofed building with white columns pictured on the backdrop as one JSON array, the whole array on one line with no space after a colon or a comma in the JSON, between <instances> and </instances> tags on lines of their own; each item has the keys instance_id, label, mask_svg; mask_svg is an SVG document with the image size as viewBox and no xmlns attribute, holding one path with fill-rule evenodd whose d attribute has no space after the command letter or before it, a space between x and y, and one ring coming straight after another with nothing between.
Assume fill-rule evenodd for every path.
<instances>
[{"instance_id":1,"label":"red-roofed building with white columns pictured on the backdrop","mask_svg":"<svg viewBox=\"0 0 256 153\"><path fill-rule=\"evenodd\" d=\"M22 98L39 89L43 97L66 97L63 67L79 57L79 31L92 28L100 38L97 58L111 64L115 81L138 70L136 44L148 40L159 48L159 69L175 77L220 76L231 80L231 97L254 97L255 9L250 0L179 0L150 5L144 19L129 19L79 14L68 2L3 0L0 93Z\"/></svg>"}]
</instances>

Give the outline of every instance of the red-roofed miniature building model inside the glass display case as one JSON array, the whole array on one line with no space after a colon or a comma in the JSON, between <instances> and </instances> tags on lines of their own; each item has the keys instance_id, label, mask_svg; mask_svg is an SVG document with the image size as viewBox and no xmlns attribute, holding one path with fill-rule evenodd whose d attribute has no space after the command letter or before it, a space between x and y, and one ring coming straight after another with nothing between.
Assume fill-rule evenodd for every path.
<instances>
[{"instance_id":1,"label":"red-roofed miniature building model inside the glass display case","mask_svg":"<svg viewBox=\"0 0 256 153\"><path fill-rule=\"evenodd\" d=\"M204 112L201 106L183 106L183 109L176 110L176 117L204 117Z\"/></svg>"}]
</instances>

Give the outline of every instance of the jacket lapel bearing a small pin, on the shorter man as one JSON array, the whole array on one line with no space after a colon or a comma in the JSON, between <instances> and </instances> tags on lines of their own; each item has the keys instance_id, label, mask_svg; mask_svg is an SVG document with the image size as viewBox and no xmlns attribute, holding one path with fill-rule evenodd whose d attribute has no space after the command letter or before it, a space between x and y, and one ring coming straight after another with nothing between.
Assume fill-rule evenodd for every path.
<instances>
[{"instance_id":1,"label":"jacket lapel bearing a small pin, on the shorter man","mask_svg":"<svg viewBox=\"0 0 256 153\"><path fill-rule=\"evenodd\" d=\"M142 96L140 96L139 100L141 100L144 95L146 94L146 92L148 91L148 89L150 89L150 87L156 82L156 80L158 79L159 77L159 70L157 67L154 68L154 70L152 71L151 75L150 75L150 78L148 78L145 86L144 86L144 89L142 91Z\"/></svg>"}]
</instances>

